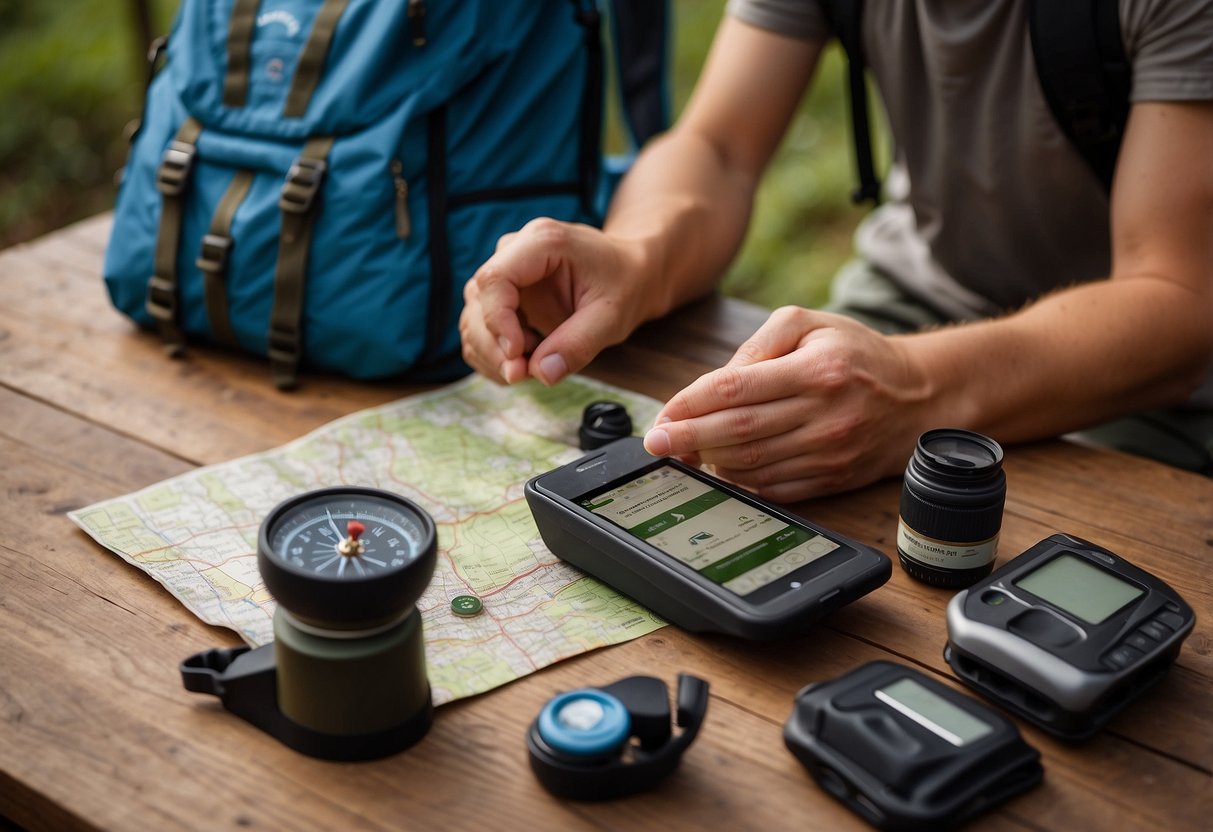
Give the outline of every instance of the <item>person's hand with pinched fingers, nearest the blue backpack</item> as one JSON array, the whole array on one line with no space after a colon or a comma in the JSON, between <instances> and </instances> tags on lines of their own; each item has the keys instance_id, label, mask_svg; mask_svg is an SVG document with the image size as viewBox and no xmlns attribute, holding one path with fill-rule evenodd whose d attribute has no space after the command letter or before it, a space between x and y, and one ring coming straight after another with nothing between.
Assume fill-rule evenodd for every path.
<instances>
[{"instance_id":1,"label":"person's hand with pinched fingers, nearest the blue backpack","mask_svg":"<svg viewBox=\"0 0 1213 832\"><path fill-rule=\"evenodd\" d=\"M534 220L506 234L463 289L463 359L512 384L554 384L644 319L634 252L590 226Z\"/></svg>"}]
</instances>

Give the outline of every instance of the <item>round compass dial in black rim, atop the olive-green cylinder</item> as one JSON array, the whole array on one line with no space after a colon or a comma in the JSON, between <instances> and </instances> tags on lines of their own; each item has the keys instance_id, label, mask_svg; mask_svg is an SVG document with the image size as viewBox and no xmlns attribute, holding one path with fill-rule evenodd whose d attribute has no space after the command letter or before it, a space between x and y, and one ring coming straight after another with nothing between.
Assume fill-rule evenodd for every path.
<instances>
[{"instance_id":1,"label":"round compass dial in black rim, atop the olive-green cylinder","mask_svg":"<svg viewBox=\"0 0 1213 832\"><path fill-rule=\"evenodd\" d=\"M308 491L274 508L257 536L257 568L304 627L366 629L406 615L429 583L434 522L378 489Z\"/></svg>"}]
</instances>

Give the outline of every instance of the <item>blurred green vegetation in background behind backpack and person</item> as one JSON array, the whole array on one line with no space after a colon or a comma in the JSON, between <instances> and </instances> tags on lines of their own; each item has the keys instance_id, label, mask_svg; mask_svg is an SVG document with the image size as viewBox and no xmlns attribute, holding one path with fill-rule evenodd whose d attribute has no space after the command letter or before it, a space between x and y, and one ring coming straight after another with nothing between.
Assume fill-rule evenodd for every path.
<instances>
[{"instance_id":1,"label":"blurred green vegetation in background behind backpack and person","mask_svg":"<svg viewBox=\"0 0 1213 832\"><path fill-rule=\"evenodd\" d=\"M0 0L0 247L113 206L114 173L137 118L147 44L175 0ZM674 0L674 109L687 101L723 0ZM724 290L763 306L824 302L859 211L841 59L831 49L763 184Z\"/></svg>"}]
</instances>

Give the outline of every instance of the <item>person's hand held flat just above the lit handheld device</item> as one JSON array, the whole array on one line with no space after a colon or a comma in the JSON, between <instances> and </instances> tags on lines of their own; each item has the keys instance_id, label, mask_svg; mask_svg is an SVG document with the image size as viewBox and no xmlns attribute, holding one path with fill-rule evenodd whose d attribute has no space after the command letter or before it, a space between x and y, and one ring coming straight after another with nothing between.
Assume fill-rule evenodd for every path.
<instances>
[{"instance_id":1,"label":"person's hand held flat just above the lit handheld device","mask_svg":"<svg viewBox=\"0 0 1213 832\"><path fill-rule=\"evenodd\" d=\"M929 393L901 340L785 307L725 366L670 399L644 446L796 502L900 472Z\"/></svg>"}]
</instances>

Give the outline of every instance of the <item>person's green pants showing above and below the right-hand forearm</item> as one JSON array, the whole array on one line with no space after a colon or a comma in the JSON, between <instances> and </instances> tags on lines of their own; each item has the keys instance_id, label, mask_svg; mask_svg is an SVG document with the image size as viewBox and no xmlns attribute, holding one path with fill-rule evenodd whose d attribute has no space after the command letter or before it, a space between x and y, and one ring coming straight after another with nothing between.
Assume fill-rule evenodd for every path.
<instances>
[{"instance_id":1,"label":"person's green pants showing above and below the right-hand forearm","mask_svg":"<svg viewBox=\"0 0 1213 832\"><path fill-rule=\"evenodd\" d=\"M825 310L854 318L887 335L951 323L939 310L906 294L884 272L858 260L838 272ZM1213 477L1213 411L1209 410L1147 410L1078 431L1069 438Z\"/></svg>"}]
</instances>

